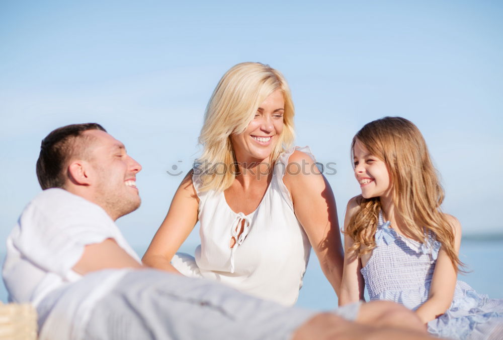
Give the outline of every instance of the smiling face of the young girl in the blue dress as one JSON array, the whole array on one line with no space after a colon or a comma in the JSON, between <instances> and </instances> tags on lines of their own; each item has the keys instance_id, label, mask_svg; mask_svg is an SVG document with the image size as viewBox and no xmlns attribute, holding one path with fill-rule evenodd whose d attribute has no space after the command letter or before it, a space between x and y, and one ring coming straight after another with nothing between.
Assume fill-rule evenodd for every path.
<instances>
[{"instance_id":1,"label":"smiling face of the young girl in the blue dress","mask_svg":"<svg viewBox=\"0 0 503 340\"><path fill-rule=\"evenodd\" d=\"M371 155L359 140L356 140L353 153L355 177L360 183L362 196L390 198L391 181L386 164Z\"/></svg>"}]
</instances>

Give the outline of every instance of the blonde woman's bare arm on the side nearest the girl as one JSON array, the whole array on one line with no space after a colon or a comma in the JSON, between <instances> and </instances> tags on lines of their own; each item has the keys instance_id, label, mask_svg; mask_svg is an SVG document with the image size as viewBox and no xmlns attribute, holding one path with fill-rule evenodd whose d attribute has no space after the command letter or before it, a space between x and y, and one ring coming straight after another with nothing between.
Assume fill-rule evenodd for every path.
<instances>
[{"instance_id":1,"label":"blonde woman's bare arm on the side nearest the girl","mask_svg":"<svg viewBox=\"0 0 503 340\"><path fill-rule=\"evenodd\" d=\"M321 269L339 295L344 254L332 189L312 159L300 151L290 156L283 182L292 195L295 215L309 238Z\"/></svg>"}]
</instances>

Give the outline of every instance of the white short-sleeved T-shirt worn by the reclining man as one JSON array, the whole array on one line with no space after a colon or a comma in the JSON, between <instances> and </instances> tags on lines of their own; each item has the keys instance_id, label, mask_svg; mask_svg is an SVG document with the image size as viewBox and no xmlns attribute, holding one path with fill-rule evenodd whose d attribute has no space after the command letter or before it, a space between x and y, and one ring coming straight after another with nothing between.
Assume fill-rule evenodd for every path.
<instances>
[{"instance_id":1,"label":"white short-sleeved T-shirt worn by the reclining man","mask_svg":"<svg viewBox=\"0 0 503 340\"><path fill-rule=\"evenodd\" d=\"M58 298L54 292L63 292L66 285L81 278L72 267L82 256L85 246L108 238L113 238L141 263L101 207L63 189L42 191L25 208L7 239L2 275L9 301L32 303L39 313L48 312L47 306ZM76 294L76 300L68 306L67 316L73 317L76 325L80 320L85 322L94 302L113 288L126 271L108 270L101 277L95 276L92 294L81 295L89 299L81 301L81 296Z\"/></svg>"}]
</instances>

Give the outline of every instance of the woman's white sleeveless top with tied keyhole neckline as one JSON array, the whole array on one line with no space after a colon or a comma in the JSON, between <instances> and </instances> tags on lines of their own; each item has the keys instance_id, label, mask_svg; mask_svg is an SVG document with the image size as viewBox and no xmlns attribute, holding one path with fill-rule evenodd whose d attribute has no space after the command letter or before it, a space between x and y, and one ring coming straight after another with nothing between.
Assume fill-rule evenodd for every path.
<instances>
[{"instance_id":1,"label":"woman's white sleeveless top with tied keyhole neckline","mask_svg":"<svg viewBox=\"0 0 503 340\"><path fill-rule=\"evenodd\" d=\"M199 196L201 245L195 251L200 275L191 276L219 281L283 305L297 301L311 245L295 217L290 194L283 183L288 158L295 150L307 153L314 161L308 147L282 153L262 201L248 215L233 212L223 191L201 192L200 178L193 176ZM241 226L243 220L244 229L238 237L241 228L236 231L236 226ZM236 244L230 248L233 236ZM190 269L192 274L194 269Z\"/></svg>"}]
</instances>

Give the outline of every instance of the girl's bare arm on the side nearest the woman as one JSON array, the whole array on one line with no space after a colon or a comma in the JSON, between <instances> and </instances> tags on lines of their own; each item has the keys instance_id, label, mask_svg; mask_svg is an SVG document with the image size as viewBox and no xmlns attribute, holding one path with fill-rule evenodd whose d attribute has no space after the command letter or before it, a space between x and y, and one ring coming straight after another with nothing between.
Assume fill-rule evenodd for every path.
<instances>
[{"instance_id":1,"label":"girl's bare arm on the side nearest the woman","mask_svg":"<svg viewBox=\"0 0 503 340\"><path fill-rule=\"evenodd\" d=\"M348 202L346 208L346 216L344 218L344 230L348 228L351 217L358 209L357 198L353 197ZM365 281L363 280L360 269L362 268L362 260L355 254L351 254L349 249L353 246L353 239L349 235L344 235L344 271L343 281L341 286L341 295L339 296L339 306L344 306L348 303L364 300L363 294L365 289Z\"/></svg>"}]
</instances>

